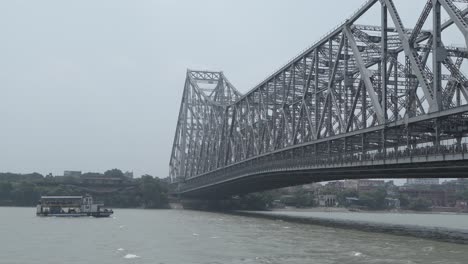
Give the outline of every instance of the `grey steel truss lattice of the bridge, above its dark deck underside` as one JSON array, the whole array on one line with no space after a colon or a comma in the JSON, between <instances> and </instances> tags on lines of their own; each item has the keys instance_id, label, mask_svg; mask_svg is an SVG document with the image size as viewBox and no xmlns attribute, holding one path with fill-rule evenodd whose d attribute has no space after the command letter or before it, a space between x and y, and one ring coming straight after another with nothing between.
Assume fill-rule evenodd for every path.
<instances>
[{"instance_id":1,"label":"grey steel truss lattice of the bridge, above its dark deck underside","mask_svg":"<svg viewBox=\"0 0 468 264\"><path fill-rule=\"evenodd\" d=\"M355 24L376 5L380 25ZM439 150L451 140L461 146L468 132L462 70L468 52L442 39L449 27L466 36L468 9L460 5L466 1L429 0L408 29L392 0L370 0L245 95L222 72L189 70L172 181L193 184L269 155L276 162L305 156L332 162L342 155L385 159L419 148ZM450 16L444 23L441 9ZM427 24L430 30L423 30Z\"/></svg>"}]
</instances>

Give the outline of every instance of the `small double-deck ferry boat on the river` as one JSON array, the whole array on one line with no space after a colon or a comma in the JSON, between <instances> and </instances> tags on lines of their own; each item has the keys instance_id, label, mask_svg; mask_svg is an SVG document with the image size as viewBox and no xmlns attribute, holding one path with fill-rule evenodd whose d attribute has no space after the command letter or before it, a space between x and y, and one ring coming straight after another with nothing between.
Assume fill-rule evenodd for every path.
<instances>
[{"instance_id":1,"label":"small double-deck ferry boat on the river","mask_svg":"<svg viewBox=\"0 0 468 264\"><path fill-rule=\"evenodd\" d=\"M85 196L41 196L36 207L37 216L57 217L109 217L114 211L105 208L103 203L93 201L89 194Z\"/></svg>"}]
</instances>

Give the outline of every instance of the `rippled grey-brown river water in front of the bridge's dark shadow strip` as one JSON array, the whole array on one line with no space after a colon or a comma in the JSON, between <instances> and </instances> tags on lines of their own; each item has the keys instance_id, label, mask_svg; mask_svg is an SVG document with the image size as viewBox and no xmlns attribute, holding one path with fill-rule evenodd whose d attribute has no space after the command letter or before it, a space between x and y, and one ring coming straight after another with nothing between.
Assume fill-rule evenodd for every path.
<instances>
[{"instance_id":1,"label":"rippled grey-brown river water in front of the bridge's dark shadow strip","mask_svg":"<svg viewBox=\"0 0 468 264\"><path fill-rule=\"evenodd\" d=\"M0 207L5 264L459 263L468 246L189 210L116 209L111 218L41 218Z\"/></svg>"}]
</instances>

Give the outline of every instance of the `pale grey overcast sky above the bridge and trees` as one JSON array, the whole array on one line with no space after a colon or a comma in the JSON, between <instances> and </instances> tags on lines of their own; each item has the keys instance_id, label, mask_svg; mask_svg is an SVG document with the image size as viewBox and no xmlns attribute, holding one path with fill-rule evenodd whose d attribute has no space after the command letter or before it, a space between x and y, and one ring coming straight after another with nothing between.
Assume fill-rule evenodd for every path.
<instances>
[{"instance_id":1,"label":"pale grey overcast sky above the bridge and trees","mask_svg":"<svg viewBox=\"0 0 468 264\"><path fill-rule=\"evenodd\" d=\"M0 1L0 171L165 177L187 68L246 92L362 3Z\"/></svg>"}]
</instances>

